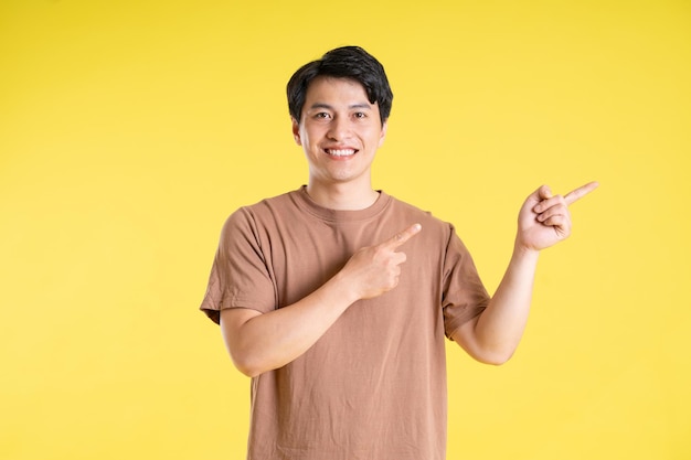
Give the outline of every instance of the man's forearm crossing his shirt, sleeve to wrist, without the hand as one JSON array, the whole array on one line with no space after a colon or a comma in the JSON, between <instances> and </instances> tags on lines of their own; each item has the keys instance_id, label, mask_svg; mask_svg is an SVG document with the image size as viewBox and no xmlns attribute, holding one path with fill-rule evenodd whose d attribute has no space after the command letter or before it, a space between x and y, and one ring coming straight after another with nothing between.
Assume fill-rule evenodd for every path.
<instances>
[{"instance_id":1,"label":"man's forearm crossing his shirt, sleeve to wrist, without the hand","mask_svg":"<svg viewBox=\"0 0 691 460\"><path fill-rule=\"evenodd\" d=\"M248 376L281 367L302 355L357 298L340 275L298 302L221 325L236 367Z\"/></svg>"}]
</instances>

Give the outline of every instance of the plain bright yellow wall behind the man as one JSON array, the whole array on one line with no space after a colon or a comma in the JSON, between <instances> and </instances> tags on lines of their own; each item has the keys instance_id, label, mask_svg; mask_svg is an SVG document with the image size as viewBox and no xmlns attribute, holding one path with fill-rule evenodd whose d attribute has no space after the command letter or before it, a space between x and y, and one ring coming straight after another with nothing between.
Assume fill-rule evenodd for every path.
<instances>
[{"instance_id":1,"label":"plain bright yellow wall behind the man","mask_svg":"<svg viewBox=\"0 0 691 460\"><path fill-rule=\"evenodd\" d=\"M306 181L285 83L343 44L395 94L375 186L490 290L525 195L602 183L514 359L449 344L448 458L691 458L682 0L3 0L0 458L243 458L249 382L196 308L227 214Z\"/></svg>"}]
</instances>

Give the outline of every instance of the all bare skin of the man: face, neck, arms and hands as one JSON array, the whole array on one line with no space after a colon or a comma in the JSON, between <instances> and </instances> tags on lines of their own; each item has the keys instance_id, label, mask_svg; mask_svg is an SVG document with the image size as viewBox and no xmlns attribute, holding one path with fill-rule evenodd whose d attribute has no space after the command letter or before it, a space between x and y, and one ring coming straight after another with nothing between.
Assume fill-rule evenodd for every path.
<instances>
[{"instance_id":1,"label":"all bare skin of the man: face, neck, arms and hands","mask_svg":"<svg viewBox=\"0 0 691 460\"><path fill-rule=\"evenodd\" d=\"M376 201L371 165L386 124L359 83L316 78L300 121L293 119L293 135L309 164L307 192L318 204L362 210ZM542 185L528 196L502 281L488 308L453 336L474 359L502 364L513 355L525 329L540 250L571 234L568 205L595 188L591 182L561 196ZM248 376L281 367L305 353L352 303L395 289L405 263L400 248L423 231L411 223L387 240L358 250L333 278L294 304L268 313L223 310L221 330L235 366Z\"/></svg>"}]
</instances>

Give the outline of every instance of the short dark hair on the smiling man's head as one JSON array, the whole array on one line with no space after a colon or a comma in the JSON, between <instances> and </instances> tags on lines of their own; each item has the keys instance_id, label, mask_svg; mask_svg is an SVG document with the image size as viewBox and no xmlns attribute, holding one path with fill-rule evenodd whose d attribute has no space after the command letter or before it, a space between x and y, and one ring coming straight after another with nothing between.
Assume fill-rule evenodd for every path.
<instances>
[{"instance_id":1,"label":"short dark hair on the smiling man's head","mask_svg":"<svg viewBox=\"0 0 691 460\"><path fill-rule=\"evenodd\" d=\"M288 110L300 121L309 84L318 76L350 78L360 83L370 104L376 103L382 125L391 114L393 93L384 66L360 46L342 46L327 52L320 60L305 64L290 77L287 86Z\"/></svg>"}]
</instances>

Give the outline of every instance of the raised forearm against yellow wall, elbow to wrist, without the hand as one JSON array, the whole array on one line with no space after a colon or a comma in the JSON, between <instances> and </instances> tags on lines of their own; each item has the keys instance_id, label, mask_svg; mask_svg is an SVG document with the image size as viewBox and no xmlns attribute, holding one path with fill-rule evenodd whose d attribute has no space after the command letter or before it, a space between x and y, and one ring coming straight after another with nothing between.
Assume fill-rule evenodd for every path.
<instances>
[{"instance_id":1,"label":"raised forearm against yellow wall, elbow to wrist, without the hand","mask_svg":"<svg viewBox=\"0 0 691 460\"><path fill-rule=\"evenodd\" d=\"M539 253L515 245L509 267L466 341L470 354L482 362L508 361L525 330Z\"/></svg>"}]
</instances>

